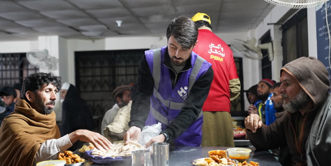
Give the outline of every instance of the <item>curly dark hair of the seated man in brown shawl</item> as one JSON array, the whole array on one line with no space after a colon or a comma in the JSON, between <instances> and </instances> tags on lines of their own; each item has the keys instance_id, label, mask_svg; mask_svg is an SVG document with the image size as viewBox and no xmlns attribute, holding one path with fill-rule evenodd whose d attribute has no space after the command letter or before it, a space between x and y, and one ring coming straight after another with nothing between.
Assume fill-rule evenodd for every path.
<instances>
[{"instance_id":1,"label":"curly dark hair of the seated man in brown shawl","mask_svg":"<svg viewBox=\"0 0 331 166\"><path fill-rule=\"evenodd\" d=\"M56 86L57 90L61 90L61 76L56 76L53 72L45 73L45 72L37 72L30 74L25 80L23 81L22 86L22 93L21 97L23 99L27 99L25 93L30 90L34 93L37 93L38 89L42 87L44 84L53 84Z\"/></svg>"}]
</instances>

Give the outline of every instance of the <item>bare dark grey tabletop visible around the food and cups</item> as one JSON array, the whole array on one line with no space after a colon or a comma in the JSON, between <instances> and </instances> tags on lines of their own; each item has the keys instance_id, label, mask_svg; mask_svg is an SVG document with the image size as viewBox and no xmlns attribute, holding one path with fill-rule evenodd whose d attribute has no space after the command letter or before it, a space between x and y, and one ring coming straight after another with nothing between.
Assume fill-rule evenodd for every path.
<instances>
[{"instance_id":1,"label":"bare dark grey tabletop visible around the food and cups","mask_svg":"<svg viewBox=\"0 0 331 166\"><path fill-rule=\"evenodd\" d=\"M170 146L169 152L169 165L170 166L184 166L194 165L192 161L198 158L208 157L210 150L226 150L231 147L218 147L218 146ZM252 150L249 160L259 162L260 166L281 166L277 159L268 150L257 150L255 147L245 147ZM152 156L151 156L152 160ZM130 166L131 159L118 160L111 163L96 163L87 161L84 165L104 165L104 166ZM153 166L150 164L150 166ZM154 165L155 166L155 165Z\"/></svg>"}]
</instances>

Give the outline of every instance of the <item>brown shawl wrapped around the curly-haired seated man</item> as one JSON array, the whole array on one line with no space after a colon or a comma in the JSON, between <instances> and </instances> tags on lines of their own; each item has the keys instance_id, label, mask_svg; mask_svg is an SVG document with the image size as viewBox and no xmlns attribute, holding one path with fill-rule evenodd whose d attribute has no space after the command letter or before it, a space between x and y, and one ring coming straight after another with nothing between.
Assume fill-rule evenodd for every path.
<instances>
[{"instance_id":1,"label":"brown shawl wrapped around the curly-haired seated man","mask_svg":"<svg viewBox=\"0 0 331 166\"><path fill-rule=\"evenodd\" d=\"M0 127L0 164L32 165L41 144L59 137L54 111L41 114L20 98Z\"/></svg>"}]
</instances>

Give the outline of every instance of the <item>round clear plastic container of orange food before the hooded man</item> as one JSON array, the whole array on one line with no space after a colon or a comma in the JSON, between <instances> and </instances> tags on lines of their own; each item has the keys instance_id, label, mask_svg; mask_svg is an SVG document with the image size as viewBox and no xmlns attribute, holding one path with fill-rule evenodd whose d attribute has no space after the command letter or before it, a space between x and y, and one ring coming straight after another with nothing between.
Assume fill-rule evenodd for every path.
<instances>
[{"instance_id":1,"label":"round clear plastic container of orange food before the hooded man","mask_svg":"<svg viewBox=\"0 0 331 166\"><path fill-rule=\"evenodd\" d=\"M239 162L244 162L249 160L249 155L251 153L251 149L242 148L242 147L232 147L226 149L228 151L229 158L236 159Z\"/></svg>"}]
</instances>

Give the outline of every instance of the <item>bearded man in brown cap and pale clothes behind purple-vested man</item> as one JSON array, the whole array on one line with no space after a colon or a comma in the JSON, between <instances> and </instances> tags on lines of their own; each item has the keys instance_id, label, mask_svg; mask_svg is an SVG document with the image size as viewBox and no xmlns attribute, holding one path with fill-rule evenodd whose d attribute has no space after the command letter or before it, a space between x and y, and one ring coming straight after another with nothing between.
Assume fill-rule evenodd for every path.
<instances>
[{"instance_id":1,"label":"bearded man in brown cap and pale clothes behind purple-vested man","mask_svg":"<svg viewBox=\"0 0 331 166\"><path fill-rule=\"evenodd\" d=\"M113 107L111 109L107 110L105 115L103 116L103 119L101 122L101 134L103 136L107 137L108 133L105 134L105 132L104 132L106 129L106 126L114 121L118 110L120 108L122 108L123 106L127 105L129 103L129 101L131 100L130 88L131 88L130 85L120 85L120 86L117 86L113 90L113 97L115 98L116 103L113 105ZM131 110L131 106L130 106L130 110Z\"/></svg>"}]
</instances>

